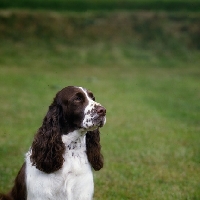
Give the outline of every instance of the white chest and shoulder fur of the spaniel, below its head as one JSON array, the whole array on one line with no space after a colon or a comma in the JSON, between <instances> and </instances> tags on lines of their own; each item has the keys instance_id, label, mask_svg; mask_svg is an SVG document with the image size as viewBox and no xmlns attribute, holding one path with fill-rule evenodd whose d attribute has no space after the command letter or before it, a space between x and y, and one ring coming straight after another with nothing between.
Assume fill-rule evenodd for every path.
<instances>
[{"instance_id":1,"label":"white chest and shoulder fur of the spaniel, below its head","mask_svg":"<svg viewBox=\"0 0 200 200\"><path fill-rule=\"evenodd\" d=\"M46 174L32 166L30 152L26 155L28 200L91 200L93 175L86 155L85 135L74 131L62 136L66 146L64 164L54 173Z\"/></svg>"}]
</instances>

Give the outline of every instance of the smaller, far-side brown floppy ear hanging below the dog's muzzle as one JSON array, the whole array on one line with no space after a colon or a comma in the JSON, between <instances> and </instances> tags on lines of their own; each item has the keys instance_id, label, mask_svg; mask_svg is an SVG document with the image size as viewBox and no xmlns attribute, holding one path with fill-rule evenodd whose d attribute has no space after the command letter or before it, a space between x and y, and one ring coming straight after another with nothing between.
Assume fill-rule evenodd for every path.
<instances>
[{"instance_id":1,"label":"smaller, far-side brown floppy ear hanging below the dog's muzzle","mask_svg":"<svg viewBox=\"0 0 200 200\"><path fill-rule=\"evenodd\" d=\"M101 154L99 129L88 131L86 134L87 157L94 170L103 167L103 155Z\"/></svg>"}]
</instances>

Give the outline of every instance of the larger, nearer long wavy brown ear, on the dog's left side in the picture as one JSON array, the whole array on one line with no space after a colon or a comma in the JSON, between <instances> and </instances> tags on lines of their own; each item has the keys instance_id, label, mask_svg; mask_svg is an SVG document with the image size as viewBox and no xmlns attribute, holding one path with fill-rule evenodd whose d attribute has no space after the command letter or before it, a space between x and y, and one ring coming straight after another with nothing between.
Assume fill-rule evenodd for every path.
<instances>
[{"instance_id":1,"label":"larger, nearer long wavy brown ear, on the dog's left side in the picture","mask_svg":"<svg viewBox=\"0 0 200 200\"><path fill-rule=\"evenodd\" d=\"M61 118L62 107L58 105L55 98L49 106L49 111L35 135L31 147L32 165L45 173L59 170L64 162L62 155L65 151L65 145L61 138Z\"/></svg>"}]
</instances>

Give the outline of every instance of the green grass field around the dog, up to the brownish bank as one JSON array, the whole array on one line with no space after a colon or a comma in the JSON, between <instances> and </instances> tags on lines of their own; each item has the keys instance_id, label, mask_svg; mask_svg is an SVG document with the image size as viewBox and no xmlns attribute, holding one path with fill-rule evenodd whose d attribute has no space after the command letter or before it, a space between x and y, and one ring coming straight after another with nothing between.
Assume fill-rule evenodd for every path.
<instances>
[{"instance_id":1,"label":"green grass field around the dog, up to the brownish bank","mask_svg":"<svg viewBox=\"0 0 200 200\"><path fill-rule=\"evenodd\" d=\"M16 24L19 33L22 25ZM70 43L19 36L0 40L1 192L12 187L56 92L78 85L107 108L105 166L94 172L94 199L200 199L198 48L165 40L168 35L165 42L147 38L149 45L135 38Z\"/></svg>"}]
</instances>

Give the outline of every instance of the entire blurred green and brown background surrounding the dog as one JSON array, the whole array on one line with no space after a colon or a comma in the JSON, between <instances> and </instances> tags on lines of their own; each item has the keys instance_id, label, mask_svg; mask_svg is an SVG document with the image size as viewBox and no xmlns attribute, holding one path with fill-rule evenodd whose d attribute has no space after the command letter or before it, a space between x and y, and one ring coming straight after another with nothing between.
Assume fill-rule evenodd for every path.
<instances>
[{"instance_id":1,"label":"entire blurred green and brown background surrounding the dog","mask_svg":"<svg viewBox=\"0 0 200 200\"><path fill-rule=\"evenodd\" d=\"M94 199L200 199L199 0L1 0L0 192L68 85L107 108Z\"/></svg>"}]
</instances>

